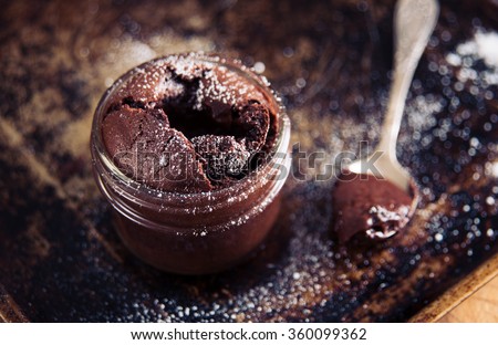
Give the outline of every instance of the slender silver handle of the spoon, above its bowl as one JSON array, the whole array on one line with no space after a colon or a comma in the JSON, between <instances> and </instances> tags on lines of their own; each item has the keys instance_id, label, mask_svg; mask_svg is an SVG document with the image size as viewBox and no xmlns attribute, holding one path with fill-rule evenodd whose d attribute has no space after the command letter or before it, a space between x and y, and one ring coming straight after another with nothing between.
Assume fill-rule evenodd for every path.
<instances>
[{"instance_id":1,"label":"slender silver handle of the spoon, above its bowl","mask_svg":"<svg viewBox=\"0 0 498 345\"><path fill-rule=\"evenodd\" d=\"M394 13L394 76L377 150L396 158L401 121L418 60L436 25L436 0L398 0Z\"/></svg>"}]
</instances>

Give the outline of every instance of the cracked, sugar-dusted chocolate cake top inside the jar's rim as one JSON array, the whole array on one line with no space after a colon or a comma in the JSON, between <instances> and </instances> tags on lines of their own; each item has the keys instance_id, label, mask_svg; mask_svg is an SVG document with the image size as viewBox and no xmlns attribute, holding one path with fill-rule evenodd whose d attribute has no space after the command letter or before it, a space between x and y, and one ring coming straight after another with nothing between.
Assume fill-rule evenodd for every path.
<instances>
[{"instance_id":1,"label":"cracked, sugar-dusted chocolate cake top inside the jar's rim","mask_svg":"<svg viewBox=\"0 0 498 345\"><path fill-rule=\"evenodd\" d=\"M231 186L273 147L277 109L229 67L190 55L134 70L108 102L102 136L127 176L164 191ZM258 159L257 159L258 158Z\"/></svg>"}]
</instances>

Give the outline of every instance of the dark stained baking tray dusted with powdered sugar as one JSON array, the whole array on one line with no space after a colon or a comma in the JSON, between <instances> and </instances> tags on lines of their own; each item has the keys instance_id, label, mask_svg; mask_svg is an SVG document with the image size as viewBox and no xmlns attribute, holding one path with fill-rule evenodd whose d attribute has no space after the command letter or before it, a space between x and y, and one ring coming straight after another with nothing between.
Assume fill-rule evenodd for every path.
<instances>
[{"instance_id":1,"label":"dark stained baking tray dusted with powdered sugar","mask_svg":"<svg viewBox=\"0 0 498 345\"><path fill-rule=\"evenodd\" d=\"M489 280L498 266L496 1L442 1L398 142L423 197L406 232L366 247L330 236L330 163L378 139L393 7L3 3L0 320L435 321ZM118 75L198 50L264 70L287 104L293 151L321 154L294 164L279 222L253 258L185 278L143 264L120 242L91 176L89 137Z\"/></svg>"}]
</instances>

